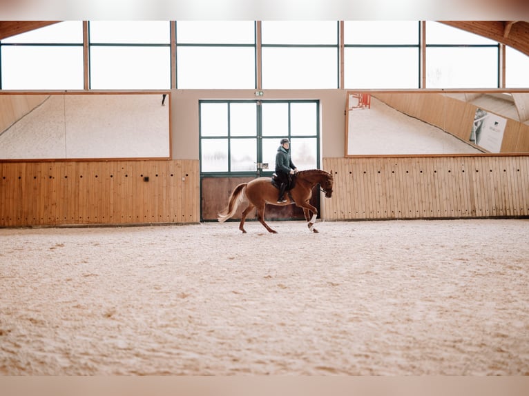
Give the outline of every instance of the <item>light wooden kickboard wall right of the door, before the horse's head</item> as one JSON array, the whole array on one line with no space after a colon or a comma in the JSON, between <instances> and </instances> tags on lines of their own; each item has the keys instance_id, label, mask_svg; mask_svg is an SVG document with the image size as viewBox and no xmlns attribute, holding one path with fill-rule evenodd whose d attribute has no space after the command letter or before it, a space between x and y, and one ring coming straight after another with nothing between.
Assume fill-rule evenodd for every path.
<instances>
[{"instance_id":1,"label":"light wooden kickboard wall right of the door, before the horse's head","mask_svg":"<svg viewBox=\"0 0 529 396\"><path fill-rule=\"evenodd\" d=\"M323 168L334 174L327 220L529 216L529 157L325 158Z\"/></svg>"}]
</instances>

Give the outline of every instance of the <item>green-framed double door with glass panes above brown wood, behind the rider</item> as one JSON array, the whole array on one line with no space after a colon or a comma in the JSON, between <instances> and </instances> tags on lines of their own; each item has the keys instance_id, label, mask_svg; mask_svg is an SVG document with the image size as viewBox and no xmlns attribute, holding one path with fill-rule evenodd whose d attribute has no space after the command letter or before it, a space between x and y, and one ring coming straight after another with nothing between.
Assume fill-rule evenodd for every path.
<instances>
[{"instance_id":1,"label":"green-framed double door with glass panes above brown wood, behind the rider","mask_svg":"<svg viewBox=\"0 0 529 396\"><path fill-rule=\"evenodd\" d=\"M216 221L238 184L273 174L283 137L290 139L292 160L300 170L320 168L317 100L203 100L199 117L200 221ZM311 204L320 210L319 194L313 195ZM294 205L269 205L265 217L304 219ZM237 219L240 212L233 217ZM256 219L256 212L248 219Z\"/></svg>"}]
</instances>

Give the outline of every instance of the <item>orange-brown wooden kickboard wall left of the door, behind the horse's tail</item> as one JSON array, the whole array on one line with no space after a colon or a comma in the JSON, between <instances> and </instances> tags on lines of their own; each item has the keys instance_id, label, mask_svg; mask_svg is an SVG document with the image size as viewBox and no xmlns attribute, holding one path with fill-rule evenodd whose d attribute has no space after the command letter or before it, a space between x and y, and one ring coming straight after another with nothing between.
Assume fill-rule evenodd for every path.
<instances>
[{"instance_id":1,"label":"orange-brown wooden kickboard wall left of the door, behind the horse's tail","mask_svg":"<svg viewBox=\"0 0 529 396\"><path fill-rule=\"evenodd\" d=\"M0 226L198 223L199 178L197 160L4 162Z\"/></svg>"}]
</instances>

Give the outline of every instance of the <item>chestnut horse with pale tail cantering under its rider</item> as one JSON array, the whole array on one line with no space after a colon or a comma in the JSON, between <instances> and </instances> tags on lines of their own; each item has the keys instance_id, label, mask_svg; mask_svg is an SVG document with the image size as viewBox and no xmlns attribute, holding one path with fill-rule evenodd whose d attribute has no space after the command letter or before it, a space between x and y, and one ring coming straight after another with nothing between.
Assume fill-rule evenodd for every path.
<instances>
[{"instance_id":1,"label":"chestnut horse with pale tail cantering under its rider","mask_svg":"<svg viewBox=\"0 0 529 396\"><path fill-rule=\"evenodd\" d=\"M311 170L300 170L296 172L293 179L294 188L289 190L288 194L285 195L286 202L278 202L278 189L271 183L271 177L258 177L248 183L239 184L233 189L229 197L229 204L222 212L218 215L218 221L221 223L235 215L239 204L247 198L249 204L246 209L242 211L242 217L240 219L239 230L246 233L244 230L244 220L253 208L257 208L258 220L260 223L269 230L269 232L277 233L264 222L264 207L266 204L285 206L290 204L296 204L296 206L303 209L305 220L309 222L309 230L318 232L314 228L316 223L316 215L318 215L318 209L314 208L309 204L309 200L312 197L312 188L316 184L320 185L321 190L325 192L325 197L330 198L332 196L332 186L334 183L332 172L325 172L325 170L311 169Z\"/></svg>"}]
</instances>

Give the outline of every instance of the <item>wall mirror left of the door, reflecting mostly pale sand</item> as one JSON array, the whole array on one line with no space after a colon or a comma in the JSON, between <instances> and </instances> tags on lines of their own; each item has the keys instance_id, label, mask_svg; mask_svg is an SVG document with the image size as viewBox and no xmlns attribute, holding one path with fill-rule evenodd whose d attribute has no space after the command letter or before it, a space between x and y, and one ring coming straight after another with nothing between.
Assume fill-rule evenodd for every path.
<instances>
[{"instance_id":1,"label":"wall mirror left of the door, reflecting mostly pale sand","mask_svg":"<svg viewBox=\"0 0 529 396\"><path fill-rule=\"evenodd\" d=\"M0 159L169 158L169 96L0 94Z\"/></svg>"}]
</instances>

